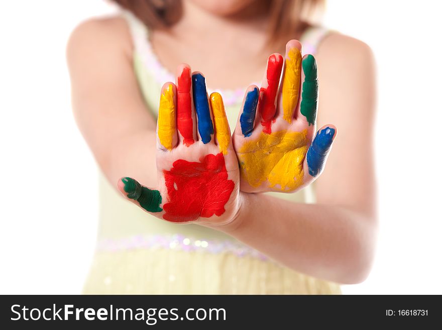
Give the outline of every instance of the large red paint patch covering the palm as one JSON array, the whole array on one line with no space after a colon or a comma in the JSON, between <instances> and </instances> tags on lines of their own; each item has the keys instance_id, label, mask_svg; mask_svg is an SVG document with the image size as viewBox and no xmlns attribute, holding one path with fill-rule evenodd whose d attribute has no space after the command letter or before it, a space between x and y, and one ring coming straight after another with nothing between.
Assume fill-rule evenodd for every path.
<instances>
[{"instance_id":1,"label":"large red paint patch covering the palm","mask_svg":"<svg viewBox=\"0 0 442 330\"><path fill-rule=\"evenodd\" d=\"M235 187L222 153L201 157L200 162L179 159L164 171L164 179L168 203L163 205L163 218L176 223L223 214Z\"/></svg>"}]
</instances>

